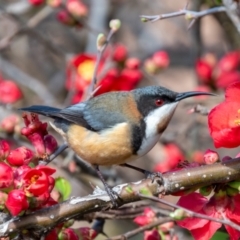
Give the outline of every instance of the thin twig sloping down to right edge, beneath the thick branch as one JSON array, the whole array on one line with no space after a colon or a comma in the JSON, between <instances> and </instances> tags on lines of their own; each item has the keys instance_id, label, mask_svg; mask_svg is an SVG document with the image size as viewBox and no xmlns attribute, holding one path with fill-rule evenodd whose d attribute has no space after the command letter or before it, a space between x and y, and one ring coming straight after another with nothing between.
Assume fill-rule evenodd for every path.
<instances>
[{"instance_id":1,"label":"thin twig sloping down to right edge, beneath the thick branch","mask_svg":"<svg viewBox=\"0 0 240 240\"><path fill-rule=\"evenodd\" d=\"M157 197L153 197L153 196L146 196L146 195L143 195L143 194L138 194L138 195L141 198L143 198L143 199L149 199L149 200L152 200L154 202L159 202L159 203L162 203L162 204L167 205L169 207L172 207L174 209L182 209L182 210L185 211L185 213L188 215L188 217L201 218L201 219L206 219L206 220L213 221L213 222L222 223L224 225L228 225L228 226L230 226L230 227L240 231L240 226L237 225L236 223L228 220L228 219L213 218L213 217L210 217L210 216L202 214L202 213L196 213L196 212L194 212L192 210L189 210L187 208L181 207L181 206L179 206L177 204L174 204L174 203L171 203L169 201L165 201L165 200L163 200L161 198L157 198Z\"/></svg>"}]
</instances>

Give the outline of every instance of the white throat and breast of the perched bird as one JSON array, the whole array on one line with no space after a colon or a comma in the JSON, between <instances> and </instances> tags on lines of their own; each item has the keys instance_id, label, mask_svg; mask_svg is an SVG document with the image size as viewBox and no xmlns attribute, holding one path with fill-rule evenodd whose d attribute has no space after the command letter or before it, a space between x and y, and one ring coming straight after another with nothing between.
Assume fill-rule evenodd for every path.
<instances>
[{"instance_id":1,"label":"white throat and breast of the perched bird","mask_svg":"<svg viewBox=\"0 0 240 240\"><path fill-rule=\"evenodd\" d=\"M145 138L143 139L142 145L137 152L138 156L145 155L154 147L161 135L161 133L158 133L158 125L162 121L166 121L166 124L168 124L177 105L178 102L165 104L162 107L153 110L147 117L145 117Z\"/></svg>"}]
</instances>

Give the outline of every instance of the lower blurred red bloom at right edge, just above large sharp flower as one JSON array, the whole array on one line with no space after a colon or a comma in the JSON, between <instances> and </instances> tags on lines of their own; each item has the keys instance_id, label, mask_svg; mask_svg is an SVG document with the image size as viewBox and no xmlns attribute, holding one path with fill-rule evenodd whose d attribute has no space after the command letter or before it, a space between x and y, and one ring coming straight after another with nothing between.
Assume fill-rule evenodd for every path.
<instances>
[{"instance_id":1,"label":"lower blurred red bloom at right edge, just above large sharp flower","mask_svg":"<svg viewBox=\"0 0 240 240\"><path fill-rule=\"evenodd\" d=\"M222 72L216 79L216 84L220 88L226 88L234 82L240 82L240 72Z\"/></svg>"}]
</instances>

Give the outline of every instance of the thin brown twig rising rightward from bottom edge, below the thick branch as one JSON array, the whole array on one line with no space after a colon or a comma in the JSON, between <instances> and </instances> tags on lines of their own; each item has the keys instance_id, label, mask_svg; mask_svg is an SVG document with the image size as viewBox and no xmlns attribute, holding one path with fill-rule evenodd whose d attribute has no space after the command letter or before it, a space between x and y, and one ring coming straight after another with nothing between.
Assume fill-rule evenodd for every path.
<instances>
[{"instance_id":1,"label":"thin brown twig rising rightward from bottom edge, below the thick branch","mask_svg":"<svg viewBox=\"0 0 240 240\"><path fill-rule=\"evenodd\" d=\"M160 218L154 222L151 222L143 227L136 228L132 231L126 232L124 234L108 238L107 240L122 240L122 239L128 239L130 237L133 237L141 232L144 232L146 230L152 229L158 225L161 225L163 223L171 222L173 219L171 217L165 217L165 218Z\"/></svg>"}]
</instances>

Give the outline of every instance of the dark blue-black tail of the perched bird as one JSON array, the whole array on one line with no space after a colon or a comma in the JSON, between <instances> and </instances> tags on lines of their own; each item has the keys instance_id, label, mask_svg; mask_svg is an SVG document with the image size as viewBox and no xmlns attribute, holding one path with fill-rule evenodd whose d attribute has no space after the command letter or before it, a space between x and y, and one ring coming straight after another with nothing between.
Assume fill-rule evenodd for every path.
<instances>
[{"instance_id":1,"label":"dark blue-black tail of the perched bird","mask_svg":"<svg viewBox=\"0 0 240 240\"><path fill-rule=\"evenodd\" d=\"M44 116L47 116L47 117L58 117L59 116L59 111L61 109L48 107L48 106L34 105L34 106L31 106L31 107L20 108L19 110L26 111L26 112L37 113L37 114L44 115Z\"/></svg>"}]
</instances>

